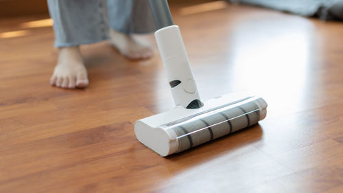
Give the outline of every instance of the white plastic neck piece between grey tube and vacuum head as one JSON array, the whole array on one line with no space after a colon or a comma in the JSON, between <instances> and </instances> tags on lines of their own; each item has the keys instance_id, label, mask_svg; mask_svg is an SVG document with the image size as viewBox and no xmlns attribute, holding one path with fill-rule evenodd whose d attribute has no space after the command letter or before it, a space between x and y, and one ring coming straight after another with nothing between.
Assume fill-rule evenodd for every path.
<instances>
[{"instance_id":1,"label":"white plastic neck piece between grey tube and vacuum head","mask_svg":"<svg viewBox=\"0 0 343 193\"><path fill-rule=\"evenodd\" d=\"M186 108L193 100L200 100L179 27L163 27L155 32L155 38L168 82L180 80L180 84L171 88L175 105Z\"/></svg>"}]
</instances>

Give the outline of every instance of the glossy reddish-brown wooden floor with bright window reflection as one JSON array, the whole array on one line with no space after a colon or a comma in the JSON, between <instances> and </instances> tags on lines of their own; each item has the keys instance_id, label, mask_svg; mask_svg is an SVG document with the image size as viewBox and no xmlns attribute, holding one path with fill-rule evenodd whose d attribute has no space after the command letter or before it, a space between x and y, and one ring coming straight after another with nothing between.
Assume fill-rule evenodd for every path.
<instances>
[{"instance_id":1,"label":"glossy reddish-brown wooden floor with bright window reflection","mask_svg":"<svg viewBox=\"0 0 343 193\"><path fill-rule=\"evenodd\" d=\"M1 19L0 192L343 192L343 24L201 8L171 5L202 99L249 91L268 115L167 158L133 130L173 108L157 49L129 61L83 46L89 87L58 89L51 27L22 25L47 16Z\"/></svg>"}]
</instances>

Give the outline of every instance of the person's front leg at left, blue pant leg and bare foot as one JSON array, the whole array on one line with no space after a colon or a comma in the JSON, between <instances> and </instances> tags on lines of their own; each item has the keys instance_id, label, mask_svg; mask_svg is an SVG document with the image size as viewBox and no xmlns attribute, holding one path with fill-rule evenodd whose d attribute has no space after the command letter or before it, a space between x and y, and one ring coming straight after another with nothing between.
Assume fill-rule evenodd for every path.
<instances>
[{"instance_id":1,"label":"person's front leg at left, blue pant leg and bare foot","mask_svg":"<svg viewBox=\"0 0 343 193\"><path fill-rule=\"evenodd\" d=\"M108 38L106 0L48 0L54 20L58 63L51 76L56 87L73 89L88 85L87 71L78 45Z\"/></svg>"}]
</instances>

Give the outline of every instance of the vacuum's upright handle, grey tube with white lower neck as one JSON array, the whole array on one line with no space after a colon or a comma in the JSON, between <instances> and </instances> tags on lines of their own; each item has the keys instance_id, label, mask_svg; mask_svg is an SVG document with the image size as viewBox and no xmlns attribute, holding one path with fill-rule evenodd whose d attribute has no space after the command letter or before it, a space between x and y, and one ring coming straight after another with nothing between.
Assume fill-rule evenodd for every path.
<instances>
[{"instance_id":1,"label":"vacuum's upright handle, grey tube with white lower neck","mask_svg":"<svg viewBox=\"0 0 343 193\"><path fill-rule=\"evenodd\" d=\"M180 29L174 25L167 0L149 0L158 30L156 43L163 60L176 106L198 109L202 106Z\"/></svg>"}]
</instances>

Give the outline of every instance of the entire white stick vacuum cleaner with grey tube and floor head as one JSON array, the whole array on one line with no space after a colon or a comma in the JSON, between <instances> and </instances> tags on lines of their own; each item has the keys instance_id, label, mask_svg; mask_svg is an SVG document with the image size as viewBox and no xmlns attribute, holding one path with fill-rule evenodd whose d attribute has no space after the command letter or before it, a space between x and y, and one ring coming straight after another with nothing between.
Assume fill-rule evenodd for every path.
<instances>
[{"instance_id":1,"label":"entire white stick vacuum cleaner with grey tube and floor head","mask_svg":"<svg viewBox=\"0 0 343 193\"><path fill-rule=\"evenodd\" d=\"M137 139L165 157L228 135L263 120L267 103L257 96L222 95L200 100L180 29L167 0L149 0L155 32L176 107L134 123Z\"/></svg>"}]
</instances>

